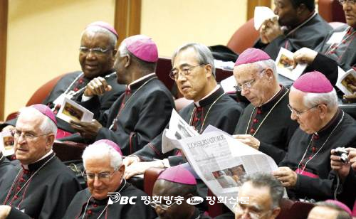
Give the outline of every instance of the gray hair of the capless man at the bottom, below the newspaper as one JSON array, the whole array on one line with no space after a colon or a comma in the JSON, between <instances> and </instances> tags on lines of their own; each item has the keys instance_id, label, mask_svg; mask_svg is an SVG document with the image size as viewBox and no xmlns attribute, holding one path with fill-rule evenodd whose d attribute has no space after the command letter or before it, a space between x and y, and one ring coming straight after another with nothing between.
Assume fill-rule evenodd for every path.
<instances>
[{"instance_id":1,"label":"gray hair of the capless man at the bottom, below the newspaper","mask_svg":"<svg viewBox=\"0 0 356 219\"><path fill-rule=\"evenodd\" d=\"M253 173L246 175L241 180L242 183L251 182L253 186L258 188L268 187L272 198L272 208L279 207L283 198L284 188L282 183L274 178L269 173Z\"/></svg>"}]
</instances>

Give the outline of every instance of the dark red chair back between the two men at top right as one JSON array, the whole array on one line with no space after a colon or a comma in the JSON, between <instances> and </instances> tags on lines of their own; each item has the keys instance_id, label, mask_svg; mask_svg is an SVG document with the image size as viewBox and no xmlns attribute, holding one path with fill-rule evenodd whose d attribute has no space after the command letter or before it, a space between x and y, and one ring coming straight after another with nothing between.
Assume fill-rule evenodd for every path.
<instances>
[{"instance_id":1,"label":"dark red chair back between the two men at top right","mask_svg":"<svg viewBox=\"0 0 356 219\"><path fill-rule=\"evenodd\" d=\"M319 0L318 10L320 16L327 22L346 22L342 5L337 0Z\"/></svg>"}]
</instances>

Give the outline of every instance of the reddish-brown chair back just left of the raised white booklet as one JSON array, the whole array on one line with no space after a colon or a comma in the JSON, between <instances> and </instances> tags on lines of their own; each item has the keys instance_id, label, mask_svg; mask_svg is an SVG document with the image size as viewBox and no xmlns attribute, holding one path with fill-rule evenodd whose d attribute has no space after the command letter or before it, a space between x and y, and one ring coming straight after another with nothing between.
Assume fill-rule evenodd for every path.
<instances>
[{"instance_id":1,"label":"reddish-brown chair back just left of the raised white booklet","mask_svg":"<svg viewBox=\"0 0 356 219\"><path fill-rule=\"evenodd\" d=\"M253 27L253 18L244 23L235 33L231 36L227 47L235 53L242 53L246 48L251 48L253 43L259 37L258 31Z\"/></svg>"}]
</instances>

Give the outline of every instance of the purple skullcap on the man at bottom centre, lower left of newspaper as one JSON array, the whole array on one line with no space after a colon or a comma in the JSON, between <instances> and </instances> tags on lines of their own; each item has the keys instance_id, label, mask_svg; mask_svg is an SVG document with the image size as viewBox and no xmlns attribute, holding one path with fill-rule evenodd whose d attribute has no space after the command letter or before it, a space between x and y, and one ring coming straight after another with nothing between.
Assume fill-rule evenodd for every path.
<instances>
[{"instance_id":1,"label":"purple skullcap on the man at bottom centre, lower left of newspaper","mask_svg":"<svg viewBox=\"0 0 356 219\"><path fill-rule=\"evenodd\" d=\"M182 183L186 185L197 185L197 181L190 171L182 165L172 166L163 171L157 179L164 179L173 183Z\"/></svg>"}]
</instances>

